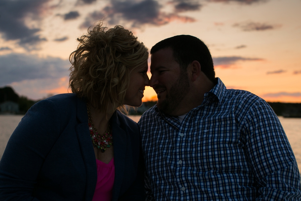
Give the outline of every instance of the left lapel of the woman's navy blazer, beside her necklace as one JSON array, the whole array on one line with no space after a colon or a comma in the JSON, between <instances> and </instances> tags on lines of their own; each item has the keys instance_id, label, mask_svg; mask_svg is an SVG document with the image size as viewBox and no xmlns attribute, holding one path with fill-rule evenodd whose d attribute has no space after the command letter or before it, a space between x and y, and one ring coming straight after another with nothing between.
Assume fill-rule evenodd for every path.
<instances>
[{"instance_id":1,"label":"left lapel of the woman's navy blazer, beside her necklace","mask_svg":"<svg viewBox=\"0 0 301 201\"><path fill-rule=\"evenodd\" d=\"M86 166L86 200L92 200L97 182L97 168L90 132L88 129L86 101L83 99L77 98L76 116L80 121L80 123L76 125L76 134Z\"/></svg>"}]
</instances>

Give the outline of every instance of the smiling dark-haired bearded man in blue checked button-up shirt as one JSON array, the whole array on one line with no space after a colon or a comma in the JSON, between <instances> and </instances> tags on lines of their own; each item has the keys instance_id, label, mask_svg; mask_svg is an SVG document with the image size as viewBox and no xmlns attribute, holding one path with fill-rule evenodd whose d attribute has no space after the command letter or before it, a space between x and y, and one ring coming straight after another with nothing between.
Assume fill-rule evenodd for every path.
<instances>
[{"instance_id":1,"label":"smiling dark-haired bearded man in blue checked button-up shirt","mask_svg":"<svg viewBox=\"0 0 301 201\"><path fill-rule=\"evenodd\" d=\"M207 46L151 49L157 105L140 121L147 200L301 200L295 156L272 108L215 78Z\"/></svg>"}]
</instances>

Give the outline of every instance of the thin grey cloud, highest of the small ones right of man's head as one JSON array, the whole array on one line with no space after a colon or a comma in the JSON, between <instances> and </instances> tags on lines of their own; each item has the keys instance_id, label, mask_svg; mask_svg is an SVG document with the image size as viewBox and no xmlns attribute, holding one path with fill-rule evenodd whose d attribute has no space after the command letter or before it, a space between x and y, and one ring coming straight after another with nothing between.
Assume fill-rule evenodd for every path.
<instances>
[{"instance_id":1,"label":"thin grey cloud, highest of the small ones right of man's head","mask_svg":"<svg viewBox=\"0 0 301 201\"><path fill-rule=\"evenodd\" d=\"M233 24L234 27L239 27L243 31L265 31L279 28L281 25L271 25L258 22L241 22Z\"/></svg>"}]
</instances>

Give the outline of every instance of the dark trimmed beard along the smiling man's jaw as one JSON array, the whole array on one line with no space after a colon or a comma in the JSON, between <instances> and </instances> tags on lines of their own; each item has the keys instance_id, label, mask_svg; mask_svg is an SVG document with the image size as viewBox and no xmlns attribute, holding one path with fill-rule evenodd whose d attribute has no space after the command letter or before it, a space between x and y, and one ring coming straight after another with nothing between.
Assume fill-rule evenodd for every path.
<instances>
[{"instance_id":1,"label":"dark trimmed beard along the smiling man's jaw","mask_svg":"<svg viewBox=\"0 0 301 201\"><path fill-rule=\"evenodd\" d=\"M171 114L185 98L190 88L186 70L181 70L180 77L171 86L169 93L166 91L165 99L157 102L157 107L166 114ZM159 97L158 97L159 99Z\"/></svg>"}]
</instances>

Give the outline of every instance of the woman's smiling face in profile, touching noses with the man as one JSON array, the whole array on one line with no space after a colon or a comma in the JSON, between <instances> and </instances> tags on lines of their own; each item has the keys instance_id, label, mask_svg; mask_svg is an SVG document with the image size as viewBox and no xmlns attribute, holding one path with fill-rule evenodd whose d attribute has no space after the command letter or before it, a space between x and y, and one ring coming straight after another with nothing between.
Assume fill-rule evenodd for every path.
<instances>
[{"instance_id":1,"label":"woman's smiling face in profile, touching noses with the man","mask_svg":"<svg viewBox=\"0 0 301 201\"><path fill-rule=\"evenodd\" d=\"M127 88L125 98L123 101L124 105L133 107L139 107L142 104L143 91L145 86L149 86L150 79L147 76L148 65L147 61L145 64L132 70L130 74L130 83Z\"/></svg>"}]
</instances>

